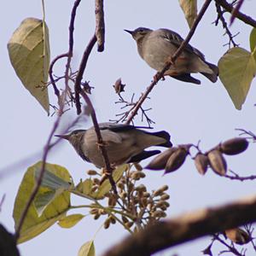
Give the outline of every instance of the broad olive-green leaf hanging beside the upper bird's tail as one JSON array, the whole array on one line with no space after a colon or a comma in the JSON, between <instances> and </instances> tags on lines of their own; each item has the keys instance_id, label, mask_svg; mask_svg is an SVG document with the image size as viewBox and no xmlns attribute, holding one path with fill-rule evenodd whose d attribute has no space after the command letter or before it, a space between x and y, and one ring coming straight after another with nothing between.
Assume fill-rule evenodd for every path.
<instances>
[{"instance_id":1,"label":"broad olive-green leaf hanging beside the upper bird's tail","mask_svg":"<svg viewBox=\"0 0 256 256\"><path fill-rule=\"evenodd\" d=\"M246 49L229 49L218 61L219 78L236 109L241 109L256 74L253 55Z\"/></svg>"}]
</instances>

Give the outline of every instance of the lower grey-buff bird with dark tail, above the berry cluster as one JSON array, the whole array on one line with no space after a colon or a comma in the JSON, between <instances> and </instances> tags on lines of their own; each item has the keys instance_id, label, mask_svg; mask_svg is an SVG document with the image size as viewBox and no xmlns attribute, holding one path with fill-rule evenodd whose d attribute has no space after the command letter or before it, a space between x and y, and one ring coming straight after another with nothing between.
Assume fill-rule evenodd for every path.
<instances>
[{"instance_id":1,"label":"lower grey-buff bird with dark tail, above the berry cluster","mask_svg":"<svg viewBox=\"0 0 256 256\"><path fill-rule=\"evenodd\" d=\"M99 126L111 166L139 162L160 153L160 150L144 150L151 146L172 147L171 137L166 131L148 132L137 126L113 123L102 123ZM94 127L55 136L67 139L83 160L104 167Z\"/></svg>"}]
</instances>

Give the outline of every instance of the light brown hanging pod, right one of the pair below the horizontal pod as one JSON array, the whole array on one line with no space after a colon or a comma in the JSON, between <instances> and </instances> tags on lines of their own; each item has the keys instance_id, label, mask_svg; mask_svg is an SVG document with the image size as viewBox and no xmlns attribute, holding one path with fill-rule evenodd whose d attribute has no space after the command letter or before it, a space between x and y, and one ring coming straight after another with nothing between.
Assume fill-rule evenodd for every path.
<instances>
[{"instance_id":1,"label":"light brown hanging pod, right one of the pair below the horizontal pod","mask_svg":"<svg viewBox=\"0 0 256 256\"><path fill-rule=\"evenodd\" d=\"M212 170L218 175L224 176L227 172L227 163L223 155L217 149L213 149L207 156Z\"/></svg>"}]
</instances>

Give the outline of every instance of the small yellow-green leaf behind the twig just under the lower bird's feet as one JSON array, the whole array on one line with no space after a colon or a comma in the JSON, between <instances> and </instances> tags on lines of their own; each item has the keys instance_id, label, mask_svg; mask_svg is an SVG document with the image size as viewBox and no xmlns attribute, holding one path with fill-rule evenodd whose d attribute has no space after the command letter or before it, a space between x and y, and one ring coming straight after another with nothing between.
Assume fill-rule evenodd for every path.
<instances>
[{"instance_id":1,"label":"small yellow-green leaf behind the twig just under the lower bird's feet","mask_svg":"<svg viewBox=\"0 0 256 256\"><path fill-rule=\"evenodd\" d=\"M114 182L118 182L119 179L123 176L123 173L129 168L129 165L125 164L122 166L118 166L113 170L113 180ZM109 183L109 180L106 179L99 187L99 189L96 190L96 199L102 199L104 198L104 195L108 193L108 191L111 189L111 184Z\"/></svg>"}]
</instances>

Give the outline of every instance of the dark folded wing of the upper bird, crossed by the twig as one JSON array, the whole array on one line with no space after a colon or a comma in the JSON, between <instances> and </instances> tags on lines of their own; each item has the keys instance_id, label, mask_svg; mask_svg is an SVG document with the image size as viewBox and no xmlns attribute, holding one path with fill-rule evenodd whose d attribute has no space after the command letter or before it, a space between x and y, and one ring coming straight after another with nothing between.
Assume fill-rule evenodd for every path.
<instances>
[{"instance_id":1,"label":"dark folded wing of the upper bird, crossed by the twig","mask_svg":"<svg viewBox=\"0 0 256 256\"><path fill-rule=\"evenodd\" d=\"M162 37L169 41L171 44L177 46L177 48L180 46L180 44L183 43L184 39L177 32L173 32L172 30L166 28L161 28L161 30L166 32ZM187 44L184 50L199 55L202 60L205 59L205 56L201 53L201 51L194 48L190 44Z\"/></svg>"}]
</instances>

